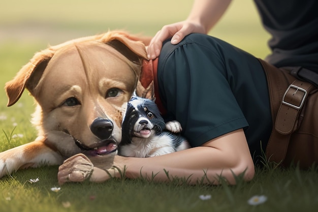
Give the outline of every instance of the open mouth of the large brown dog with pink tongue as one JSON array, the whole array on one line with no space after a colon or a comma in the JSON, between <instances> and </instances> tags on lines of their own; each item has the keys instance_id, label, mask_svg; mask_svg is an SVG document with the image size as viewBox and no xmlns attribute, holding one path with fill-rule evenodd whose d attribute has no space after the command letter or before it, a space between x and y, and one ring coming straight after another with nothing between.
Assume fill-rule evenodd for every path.
<instances>
[{"instance_id":1,"label":"open mouth of the large brown dog with pink tongue","mask_svg":"<svg viewBox=\"0 0 318 212\"><path fill-rule=\"evenodd\" d=\"M74 141L86 156L105 156L117 150L117 144L114 139L103 140L92 147L86 146L77 139L74 139Z\"/></svg>"}]
</instances>

